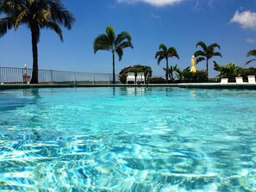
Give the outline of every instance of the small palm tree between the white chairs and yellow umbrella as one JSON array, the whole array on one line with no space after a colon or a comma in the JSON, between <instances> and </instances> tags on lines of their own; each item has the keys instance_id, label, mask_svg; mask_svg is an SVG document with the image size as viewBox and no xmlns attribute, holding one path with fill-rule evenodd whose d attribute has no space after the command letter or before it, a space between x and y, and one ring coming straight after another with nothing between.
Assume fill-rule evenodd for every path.
<instances>
[{"instance_id":1,"label":"small palm tree between the white chairs and yellow umbrella","mask_svg":"<svg viewBox=\"0 0 256 192\"><path fill-rule=\"evenodd\" d=\"M179 59L178 57L178 53L176 51L176 49L174 47L170 47L167 49L167 47L165 46L165 44L160 44L159 45L159 51L157 53L155 53L154 58L158 59L158 65L160 64L162 59L166 60L166 68L165 68L165 80L166 83L168 82L168 74L169 74L169 62L168 59L169 58L173 58L176 57L177 59Z\"/></svg>"}]
</instances>

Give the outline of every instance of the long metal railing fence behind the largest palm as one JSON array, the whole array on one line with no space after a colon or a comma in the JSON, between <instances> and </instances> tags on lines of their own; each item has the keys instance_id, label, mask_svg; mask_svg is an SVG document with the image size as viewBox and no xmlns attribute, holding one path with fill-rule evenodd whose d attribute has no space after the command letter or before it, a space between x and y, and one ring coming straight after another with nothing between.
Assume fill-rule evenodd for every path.
<instances>
[{"instance_id":1,"label":"long metal railing fence behind the largest palm","mask_svg":"<svg viewBox=\"0 0 256 192\"><path fill-rule=\"evenodd\" d=\"M1 84L29 84L32 69L0 67ZM38 70L39 84L112 84L113 75L78 71ZM118 75L116 75L118 84Z\"/></svg>"}]
</instances>

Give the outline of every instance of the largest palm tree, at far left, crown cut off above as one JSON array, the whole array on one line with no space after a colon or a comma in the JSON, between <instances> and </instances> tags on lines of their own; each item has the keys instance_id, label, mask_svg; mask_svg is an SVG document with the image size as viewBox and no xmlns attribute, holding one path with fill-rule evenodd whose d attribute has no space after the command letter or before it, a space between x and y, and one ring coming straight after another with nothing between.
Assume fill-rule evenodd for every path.
<instances>
[{"instance_id":1,"label":"largest palm tree, at far left, crown cut off above","mask_svg":"<svg viewBox=\"0 0 256 192\"><path fill-rule=\"evenodd\" d=\"M75 18L66 10L61 0L0 0L0 13L7 15L0 19L0 37L11 28L22 24L28 26L32 38L33 71L31 84L38 84L38 48L41 28L50 28L63 41L59 25L72 28Z\"/></svg>"}]
</instances>

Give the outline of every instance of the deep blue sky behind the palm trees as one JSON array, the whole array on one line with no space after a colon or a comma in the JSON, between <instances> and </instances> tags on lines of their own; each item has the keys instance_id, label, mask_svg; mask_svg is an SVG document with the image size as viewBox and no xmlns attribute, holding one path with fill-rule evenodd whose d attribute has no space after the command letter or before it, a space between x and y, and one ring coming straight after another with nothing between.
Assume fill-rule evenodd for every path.
<instances>
[{"instance_id":1,"label":"deep blue sky behind the palm trees","mask_svg":"<svg viewBox=\"0 0 256 192\"><path fill-rule=\"evenodd\" d=\"M133 38L134 49L125 49L121 62L116 59L116 73L140 64L151 66L154 76L165 76L165 61L157 65L154 59L160 43L177 49L179 59L169 62L180 69L190 66L197 41L219 43L222 58L210 60L210 77L217 74L213 60L242 66L248 60L247 51L256 49L256 0L65 0L64 4L77 22L70 31L63 28L64 42L53 31L41 31L40 69L111 73L111 54L94 54L92 48L107 25L116 34L128 31ZM24 64L32 67L32 48L30 32L21 26L0 39L0 66ZM197 64L197 69L205 69L205 62Z\"/></svg>"}]
</instances>

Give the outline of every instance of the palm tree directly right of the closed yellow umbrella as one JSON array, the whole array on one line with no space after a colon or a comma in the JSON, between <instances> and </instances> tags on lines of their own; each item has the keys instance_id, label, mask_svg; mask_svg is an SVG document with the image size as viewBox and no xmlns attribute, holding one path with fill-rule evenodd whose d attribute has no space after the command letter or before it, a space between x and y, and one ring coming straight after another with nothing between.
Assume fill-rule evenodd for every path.
<instances>
[{"instance_id":1,"label":"palm tree directly right of the closed yellow umbrella","mask_svg":"<svg viewBox=\"0 0 256 192\"><path fill-rule=\"evenodd\" d=\"M218 47L221 49L221 46L217 43L213 43L209 46L206 46L206 44L203 41L198 41L197 46L202 47L202 51L198 50L197 52L194 53L195 57L197 58L196 63L199 63L203 60L206 60L206 72L207 72L207 77L209 77L209 59L215 56L220 56L222 58L222 54L219 52L215 52L215 47Z\"/></svg>"}]
</instances>

